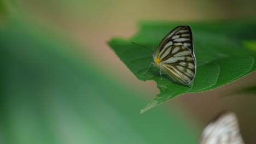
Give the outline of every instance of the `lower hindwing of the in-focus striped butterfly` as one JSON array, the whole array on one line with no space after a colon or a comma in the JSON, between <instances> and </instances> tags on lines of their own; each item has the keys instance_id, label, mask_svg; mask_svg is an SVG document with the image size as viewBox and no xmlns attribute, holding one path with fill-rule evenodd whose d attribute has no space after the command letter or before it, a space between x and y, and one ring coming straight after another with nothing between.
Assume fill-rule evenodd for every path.
<instances>
[{"instance_id":1,"label":"lower hindwing of the in-focus striped butterfly","mask_svg":"<svg viewBox=\"0 0 256 144\"><path fill-rule=\"evenodd\" d=\"M172 44L159 54L160 68L172 80L187 85L193 81L196 73L196 62L187 46Z\"/></svg>"}]
</instances>

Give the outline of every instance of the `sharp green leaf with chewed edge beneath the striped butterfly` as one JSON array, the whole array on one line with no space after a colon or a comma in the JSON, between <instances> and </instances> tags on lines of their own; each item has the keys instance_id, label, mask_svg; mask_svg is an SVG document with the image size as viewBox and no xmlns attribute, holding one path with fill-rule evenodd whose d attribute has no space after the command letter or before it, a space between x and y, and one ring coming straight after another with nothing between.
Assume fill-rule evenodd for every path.
<instances>
[{"instance_id":1,"label":"sharp green leaf with chewed edge beneath the striped butterfly","mask_svg":"<svg viewBox=\"0 0 256 144\"><path fill-rule=\"evenodd\" d=\"M161 80L157 68L143 75L153 58L148 50L131 44L133 41L153 47L153 39L159 43L178 25L190 25L193 31L197 72L194 82L188 86L171 82L167 75L163 75ZM130 39L113 38L108 44L139 80L156 81L160 94L141 110L143 113L177 95L209 91L252 73L256 70L256 53L242 42L255 40L255 33L256 20L142 22L137 34Z\"/></svg>"}]
</instances>

